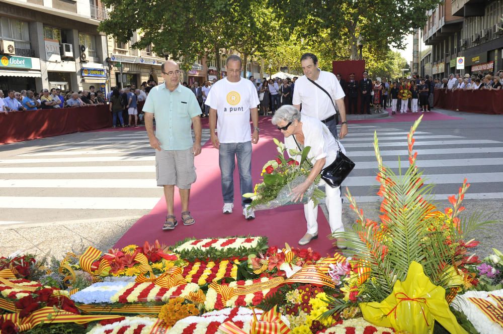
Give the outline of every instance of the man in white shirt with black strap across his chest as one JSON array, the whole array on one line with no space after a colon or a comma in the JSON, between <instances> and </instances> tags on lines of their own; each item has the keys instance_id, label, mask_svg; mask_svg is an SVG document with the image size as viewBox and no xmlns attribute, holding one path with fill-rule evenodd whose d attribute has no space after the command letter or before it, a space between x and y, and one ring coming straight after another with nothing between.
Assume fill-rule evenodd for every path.
<instances>
[{"instance_id":1,"label":"man in white shirt with black strap across his chest","mask_svg":"<svg viewBox=\"0 0 503 334\"><path fill-rule=\"evenodd\" d=\"M302 105L302 115L320 120L328 127L333 137L337 138L338 120L334 108L334 105L337 105L341 115L339 138L343 139L348 134L348 122L346 122L346 108L344 106L344 96L346 94L339 80L333 73L321 71L318 68L318 58L312 53L304 53L300 58L300 64L304 76L295 81L293 106L301 110ZM309 79L323 87L330 94L330 97Z\"/></svg>"}]
</instances>

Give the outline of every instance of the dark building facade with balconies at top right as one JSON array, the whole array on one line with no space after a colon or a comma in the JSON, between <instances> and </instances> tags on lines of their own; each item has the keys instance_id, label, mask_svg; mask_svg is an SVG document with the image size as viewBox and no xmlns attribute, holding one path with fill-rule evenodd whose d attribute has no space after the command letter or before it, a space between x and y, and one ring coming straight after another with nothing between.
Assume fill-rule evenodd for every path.
<instances>
[{"instance_id":1,"label":"dark building facade with balconies at top right","mask_svg":"<svg viewBox=\"0 0 503 334\"><path fill-rule=\"evenodd\" d=\"M446 0L428 13L423 41L432 46L421 67L436 78L494 73L503 68L503 1ZM456 69L457 57L464 68Z\"/></svg>"}]
</instances>

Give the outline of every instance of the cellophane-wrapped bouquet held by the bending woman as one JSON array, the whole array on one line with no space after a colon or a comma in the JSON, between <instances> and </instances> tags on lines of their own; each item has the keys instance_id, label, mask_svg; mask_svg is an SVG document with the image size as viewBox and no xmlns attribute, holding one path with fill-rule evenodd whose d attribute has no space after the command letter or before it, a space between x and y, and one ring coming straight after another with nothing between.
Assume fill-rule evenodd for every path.
<instances>
[{"instance_id":1,"label":"cellophane-wrapped bouquet held by the bending woman","mask_svg":"<svg viewBox=\"0 0 503 334\"><path fill-rule=\"evenodd\" d=\"M285 158L285 145L274 138L274 143L278 146L278 156L274 160L268 161L263 169L261 176L263 182L255 185L254 193L244 194L243 196L251 198L251 207L255 210L273 209L275 207L291 204L307 203L313 200L316 205L321 198L325 196L323 191L318 189L320 176L318 175L314 182L304 192L304 196L299 201L294 201L295 196L292 190L304 183L312 169L311 159L307 157L311 147L305 147L301 152L290 150L290 156L299 157L296 159Z\"/></svg>"}]
</instances>

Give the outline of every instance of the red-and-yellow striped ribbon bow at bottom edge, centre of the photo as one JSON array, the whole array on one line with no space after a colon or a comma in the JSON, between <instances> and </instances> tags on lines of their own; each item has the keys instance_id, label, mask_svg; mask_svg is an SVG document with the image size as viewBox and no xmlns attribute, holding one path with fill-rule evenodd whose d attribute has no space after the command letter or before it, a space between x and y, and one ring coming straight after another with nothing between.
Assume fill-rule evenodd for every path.
<instances>
[{"instance_id":1,"label":"red-and-yellow striped ribbon bow at bottom edge, centre of the photo","mask_svg":"<svg viewBox=\"0 0 503 334\"><path fill-rule=\"evenodd\" d=\"M255 310L252 310L253 320L251 320L249 334L288 334L291 332L291 329L281 320L281 314L276 311L276 306L264 312L260 320L257 319ZM222 323L218 329L226 334L248 334L232 321Z\"/></svg>"}]
</instances>

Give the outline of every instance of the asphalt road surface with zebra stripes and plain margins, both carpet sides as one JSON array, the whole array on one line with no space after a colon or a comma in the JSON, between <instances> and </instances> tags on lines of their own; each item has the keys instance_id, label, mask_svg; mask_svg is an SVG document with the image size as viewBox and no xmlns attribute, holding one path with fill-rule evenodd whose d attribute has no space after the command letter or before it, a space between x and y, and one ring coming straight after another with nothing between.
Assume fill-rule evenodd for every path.
<instances>
[{"instance_id":1,"label":"asphalt road surface with zebra stripes and plain margins, both carpet sides","mask_svg":"<svg viewBox=\"0 0 503 334\"><path fill-rule=\"evenodd\" d=\"M442 113L463 119L424 121L415 135L418 165L427 183L437 183L434 198L443 208L447 196L457 193L466 177L471 183L465 197L467 207L492 212L499 218L503 117ZM406 133L410 125L349 125L350 135L343 143L357 167L344 187L349 187L362 207L374 212L371 216L376 216L378 205L373 133L378 133L385 165L398 172L398 157L402 166L407 165ZM207 139L205 130L203 140ZM155 185L154 152L143 128L76 133L0 146L0 255L16 249L52 249L50 241L55 238L56 226L78 235L69 238L68 245L94 243L108 248L161 196L162 189ZM345 224L350 225L354 216L347 204L345 207ZM79 232L86 226L95 230ZM503 237L500 227L486 230L490 235L483 252L499 246ZM40 238L31 237L33 234ZM26 247L20 245L23 240Z\"/></svg>"}]
</instances>

